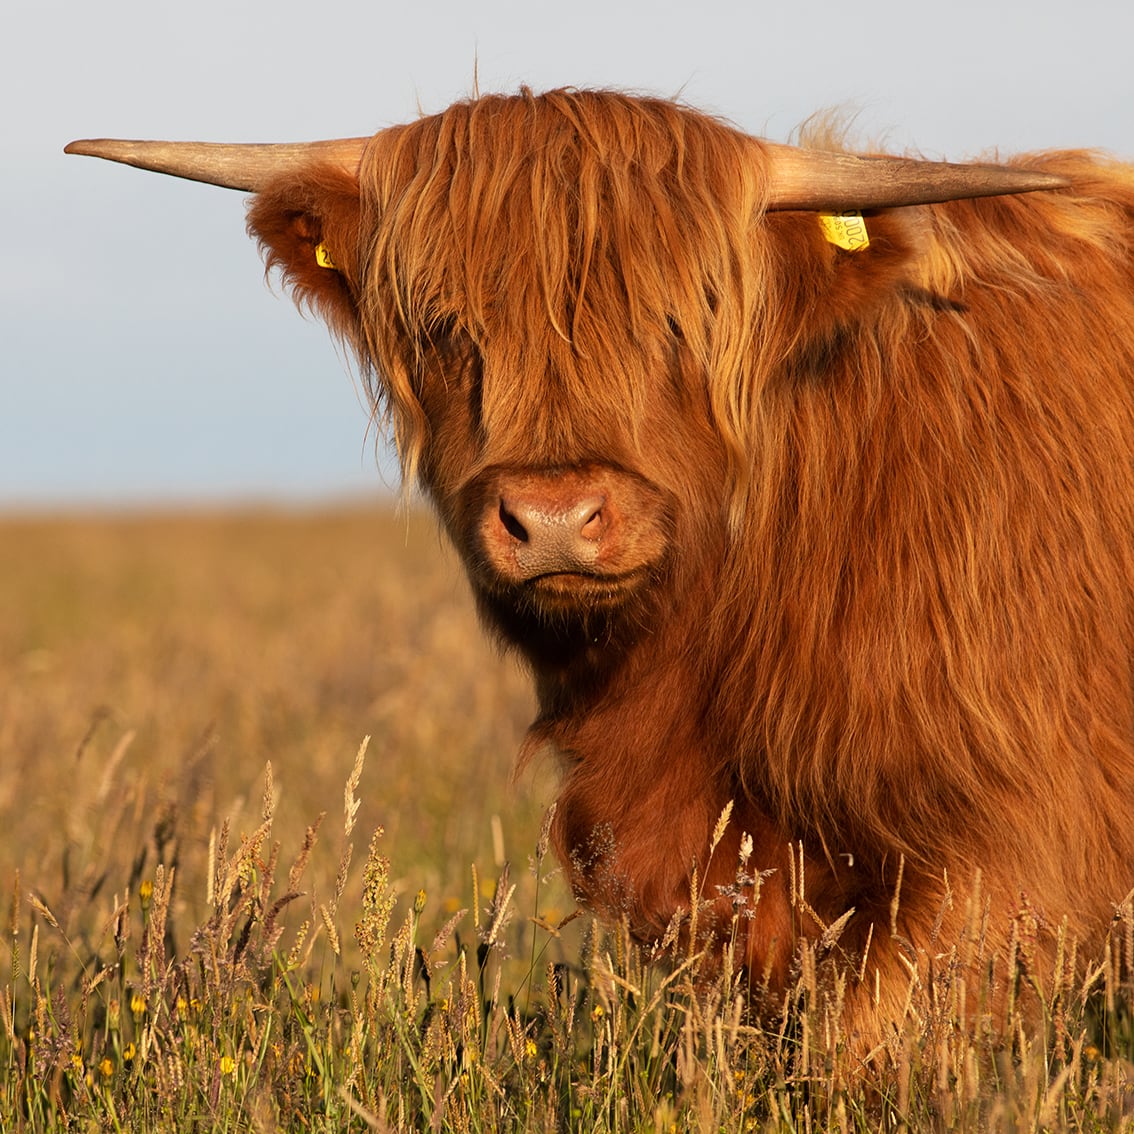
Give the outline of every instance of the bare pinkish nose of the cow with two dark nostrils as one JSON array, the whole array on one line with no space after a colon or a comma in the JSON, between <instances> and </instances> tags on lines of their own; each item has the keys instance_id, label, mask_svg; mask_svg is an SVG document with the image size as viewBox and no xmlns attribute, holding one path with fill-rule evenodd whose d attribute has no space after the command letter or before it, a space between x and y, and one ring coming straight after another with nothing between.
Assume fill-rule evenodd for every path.
<instances>
[{"instance_id":1,"label":"bare pinkish nose of the cow with two dark nostrils","mask_svg":"<svg viewBox=\"0 0 1134 1134\"><path fill-rule=\"evenodd\" d=\"M527 575L589 570L607 531L606 498L591 492L567 499L545 493L500 497L500 524L511 538L516 565Z\"/></svg>"}]
</instances>

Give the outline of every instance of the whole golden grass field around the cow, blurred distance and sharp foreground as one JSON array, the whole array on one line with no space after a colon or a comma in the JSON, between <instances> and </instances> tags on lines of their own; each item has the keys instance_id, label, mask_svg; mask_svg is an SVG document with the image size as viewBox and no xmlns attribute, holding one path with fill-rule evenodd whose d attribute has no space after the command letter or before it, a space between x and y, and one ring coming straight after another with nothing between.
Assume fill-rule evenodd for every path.
<instances>
[{"instance_id":1,"label":"whole golden grass field around the cow, blurred distance and sharp foreground","mask_svg":"<svg viewBox=\"0 0 1134 1134\"><path fill-rule=\"evenodd\" d=\"M809 964L761 1025L573 917L424 516L0 521L0 1129L1134 1129L1129 903L865 1082Z\"/></svg>"}]
</instances>

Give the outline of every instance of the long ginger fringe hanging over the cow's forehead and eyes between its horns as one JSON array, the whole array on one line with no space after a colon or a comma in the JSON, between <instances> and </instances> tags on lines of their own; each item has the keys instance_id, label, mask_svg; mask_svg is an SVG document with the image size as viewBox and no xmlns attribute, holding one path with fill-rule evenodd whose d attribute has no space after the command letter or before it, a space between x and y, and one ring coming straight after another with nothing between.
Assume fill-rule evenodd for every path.
<instances>
[{"instance_id":1,"label":"long ginger fringe hanging over the cow's forehead and eyes between its horns","mask_svg":"<svg viewBox=\"0 0 1134 1134\"><path fill-rule=\"evenodd\" d=\"M710 389L735 472L739 381L773 303L751 239L767 193L759 143L671 102L601 92L488 96L382 132L361 170L366 350L381 359L415 465L421 347L440 331L481 349L485 426L542 424L535 448L577 451L589 418L633 422L648 395L626 362L677 328ZM552 418L535 375L558 375ZM599 389L590 378L603 373Z\"/></svg>"}]
</instances>

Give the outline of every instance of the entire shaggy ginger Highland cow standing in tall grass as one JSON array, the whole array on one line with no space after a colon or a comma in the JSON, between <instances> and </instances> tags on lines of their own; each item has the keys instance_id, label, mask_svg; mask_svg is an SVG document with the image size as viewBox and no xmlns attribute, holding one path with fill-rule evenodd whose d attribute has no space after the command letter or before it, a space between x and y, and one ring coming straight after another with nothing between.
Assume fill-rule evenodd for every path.
<instances>
[{"instance_id":1,"label":"entire shaggy ginger Highland cow standing in tall grass","mask_svg":"<svg viewBox=\"0 0 1134 1134\"><path fill-rule=\"evenodd\" d=\"M866 1041L974 909L1040 971L1060 926L1099 946L1134 881L1134 171L575 91L73 149L256 192L531 666L583 900L650 941L696 879L731 932L743 857L752 973L837 939ZM820 215L853 209L866 246Z\"/></svg>"}]
</instances>

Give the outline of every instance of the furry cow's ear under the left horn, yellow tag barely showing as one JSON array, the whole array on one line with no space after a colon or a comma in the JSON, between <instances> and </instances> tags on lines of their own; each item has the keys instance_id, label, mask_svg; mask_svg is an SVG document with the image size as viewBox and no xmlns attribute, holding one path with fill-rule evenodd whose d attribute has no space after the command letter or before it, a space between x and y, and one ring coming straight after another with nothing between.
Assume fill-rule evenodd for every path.
<instances>
[{"instance_id":1,"label":"furry cow's ear under the left horn, yellow tag barely showing","mask_svg":"<svg viewBox=\"0 0 1134 1134\"><path fill-rule=\"evenodd\" d=\"M359 217L358 181L333 166L269 183L248 209L268 271L278 269L295 302L358 349Z\"/></svg>"}]
</instances>

